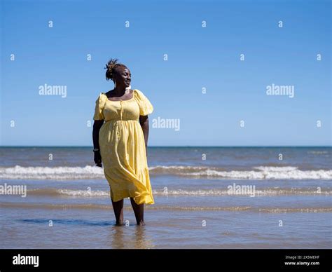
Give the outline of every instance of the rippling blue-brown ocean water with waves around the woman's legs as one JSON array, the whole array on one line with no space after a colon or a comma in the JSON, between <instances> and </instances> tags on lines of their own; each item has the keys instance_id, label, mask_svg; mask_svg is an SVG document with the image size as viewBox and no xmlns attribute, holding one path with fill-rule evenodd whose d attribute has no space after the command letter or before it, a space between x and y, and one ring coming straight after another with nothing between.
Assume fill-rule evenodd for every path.
<instances>
[{"instance_id":1,"label":"rippling blue-brown ocean water with waves around the woman's legs","mask_svg":"<svg viewBox=\"0 0 332 272\"><path fill-rule=\"evenodd\" d=\"M1 248L331 248L331 147L149 147L155 198L114 226L92 147L0 148Z\"/></svg>"}]
</instances>

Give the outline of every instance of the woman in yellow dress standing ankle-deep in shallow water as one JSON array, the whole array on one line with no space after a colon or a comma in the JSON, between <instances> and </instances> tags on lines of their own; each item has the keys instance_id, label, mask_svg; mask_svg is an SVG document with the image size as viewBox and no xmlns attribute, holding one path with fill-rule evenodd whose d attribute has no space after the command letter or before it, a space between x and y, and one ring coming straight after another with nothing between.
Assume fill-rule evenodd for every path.
<instances>
[{"instance_id":1,"label":"woman in yellow dress standing ankle-deep in shallow water","mask_svg":"<svg viewBox=\"0 0 332 272\"><path fill-rule=\"evenodd\" d=\"M105 69L106 80L111 79L114 88L96 101L95 163L104 164L116 224L123 224L123 198L130 198L137 224L144 225L144 203L154 203L146 159L148 114L153 106L140 90L130 89L131 74L124 64L111 59Z\"/></svg>"}]
</instances>

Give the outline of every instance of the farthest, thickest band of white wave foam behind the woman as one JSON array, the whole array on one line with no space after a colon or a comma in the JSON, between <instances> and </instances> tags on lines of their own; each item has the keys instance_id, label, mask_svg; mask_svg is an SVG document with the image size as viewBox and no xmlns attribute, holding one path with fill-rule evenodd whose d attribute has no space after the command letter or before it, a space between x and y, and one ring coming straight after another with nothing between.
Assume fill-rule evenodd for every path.
<instances>
[{"instance_id":1,"label":"farthest, thickest band of white wave foam behind the woman","mask_svg":"<svg viewBox=\"0 0 332 272\"><path fill-rule=\"evenodd\" d=\"M257 166L252 170L230 170L206 166L155 166L154 175L216 177L219 179L332 179L332 170L299 170L293 166ZM22 167L0 168L0 179L105 179L103 168L85 167Z\"/></svg>"}]
</instances>

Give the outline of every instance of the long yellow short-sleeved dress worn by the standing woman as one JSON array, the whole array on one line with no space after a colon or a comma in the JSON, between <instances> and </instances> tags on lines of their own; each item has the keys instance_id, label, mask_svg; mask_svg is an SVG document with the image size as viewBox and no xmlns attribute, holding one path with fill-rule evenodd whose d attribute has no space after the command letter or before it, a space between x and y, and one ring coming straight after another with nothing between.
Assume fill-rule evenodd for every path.
<instances>
[{"instance_id":1,"label":"long yellow short-sleeved dress worn by the standing woman","mask_svg":"<svg viewBox=\"0 0 332 272\"><path fill-rule=\"evenodd\" d=\"M113 201L134 198L137 204L154 203L139 124L139 116L152 111L151 102L137 89L130 100L111 101L104 93L96 100L93 119L105 121L99 130L99 149Z\"/></svg>"}]
</instances>

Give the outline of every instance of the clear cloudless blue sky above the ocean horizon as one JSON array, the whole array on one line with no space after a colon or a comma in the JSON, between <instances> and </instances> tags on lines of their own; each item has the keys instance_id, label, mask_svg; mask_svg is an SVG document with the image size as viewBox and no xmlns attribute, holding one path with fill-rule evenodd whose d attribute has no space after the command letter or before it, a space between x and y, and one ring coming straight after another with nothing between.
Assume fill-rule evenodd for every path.
<instances>
[{"instance_id":1,"label":"clear cloudless blue sky above the ocean horizon","mask_svg":"<svg viewBox=\"0 0 332 272\"><path fill-rule=\"evenodd\" d=\"M331 1L155 2L1 1L0 144L92 145L116 57L155 108L150 146L331 145ZM67 97L39 95L45 83ZM266 95L272 83L294 97Z\"/></svg>"}]
</instances>

